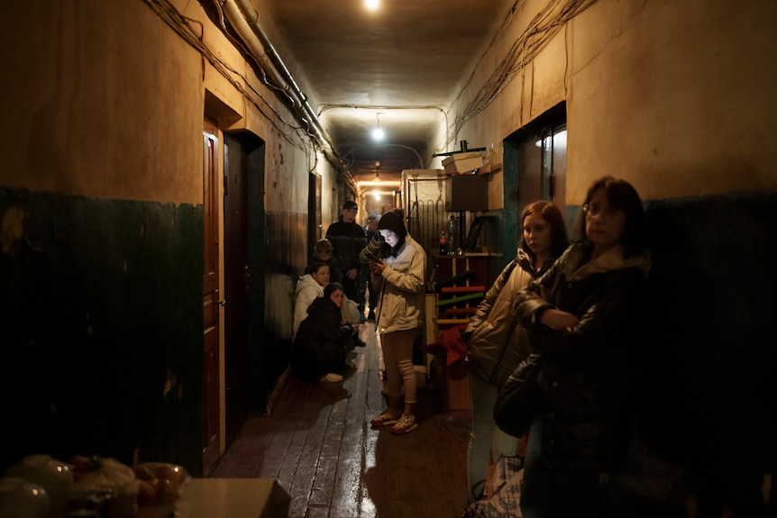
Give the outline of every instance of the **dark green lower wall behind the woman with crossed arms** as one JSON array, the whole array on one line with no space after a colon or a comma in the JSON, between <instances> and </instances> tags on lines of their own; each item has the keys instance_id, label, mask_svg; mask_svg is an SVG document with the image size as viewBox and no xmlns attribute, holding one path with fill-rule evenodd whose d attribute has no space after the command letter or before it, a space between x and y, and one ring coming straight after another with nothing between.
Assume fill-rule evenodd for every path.
<instances>
[{"instance_id":1,"label":"dark green lower wall behind the woman with crossed arms","mask_svg":"<svg viewBox=\"0 0 777 518\"><path fill-rule=\"evenodd\" d=\"M777 193L649 200L645 211L653 268L634 373L638 434L628 471L610 480L629 496L616 501L634 508L614 515L685 515L690 494L699 516L723 505L766 515L762 485L777 460ZM566 207L571 238L579 213Z\"/></svg>"}]
</instances>

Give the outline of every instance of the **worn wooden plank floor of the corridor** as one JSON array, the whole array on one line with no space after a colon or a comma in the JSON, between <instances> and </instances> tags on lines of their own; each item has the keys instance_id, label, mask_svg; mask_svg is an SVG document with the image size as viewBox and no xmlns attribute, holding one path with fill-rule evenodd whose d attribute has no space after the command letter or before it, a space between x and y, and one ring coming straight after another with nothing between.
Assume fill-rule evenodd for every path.
<instances>
[{"instance_id":1,"label":"worn wooden plank floor of the corridor","mask_svg":"<svg viewBox=\"0 0 777 518\"><path fill-rule=\"evenodd\" d=\"M366 348L342 383L293 377L268 416L247 421L213 477L271 477L292 501L291 517L461 516L469 411L443 411L440 390L419 387L419 427L406 436L373 430L383 409L382 358L372 323Z\"/></svg>"}]
</instances>

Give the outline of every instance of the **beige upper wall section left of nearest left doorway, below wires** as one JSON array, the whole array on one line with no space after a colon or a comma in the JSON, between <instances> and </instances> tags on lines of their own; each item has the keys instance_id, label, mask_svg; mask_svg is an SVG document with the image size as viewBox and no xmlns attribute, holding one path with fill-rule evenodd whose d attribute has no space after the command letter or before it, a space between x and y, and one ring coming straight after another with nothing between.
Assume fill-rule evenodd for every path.
<instances>
[{"instance_id":1,"label":"beige upper wall section left of nearest left doorway, below wires","mask_svg":"<svg viewBox=\"0 0 777 518\"><path fill-rule=\"evenodd\" d=\"M202 65L147 6L17 3L0 30L4 185L201 202L202 175L188 171L202 168Z\"/></svg>"}]
</instances>

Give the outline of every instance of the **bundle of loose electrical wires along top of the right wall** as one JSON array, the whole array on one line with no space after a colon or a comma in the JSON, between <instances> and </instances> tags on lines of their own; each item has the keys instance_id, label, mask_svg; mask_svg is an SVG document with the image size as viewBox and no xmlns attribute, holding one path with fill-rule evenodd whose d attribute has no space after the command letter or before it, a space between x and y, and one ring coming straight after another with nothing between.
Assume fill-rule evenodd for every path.
<instances>
[{"instance_id":1,"label":"bundle of loose electrical wires along top of the right wall","mask_svg":"<svg viewBox=\"0 0 777 518\"><path fill-rule=\"evenodd\" d=\"M464 123L475 115L480 114L481 111L490 105L517 74L536 58L540 51L553 40L553 37L561 31L572 18L582 13L596 2L597 0L551 0L548 5L545 5L544 9L537 13L534 19L528 24L526 30L513 42L510 49L507 50L505 58L501 60L491 73L489 79L480 87L480 90L470 103L456 116L451 132L452 140L457 138ZM507 20L512 17L517 6L521 3L522 1L520 0L516 2L516 5L513 6L510 10L510 14L508 14ZM506 23L503 23L500 26L498 33L502 32ZM493 46L495 40L496 37L491 41L489 48ZM478 66L481 61L482 57L478 61ZM477 69L477 66L475 69ZM475 70L473 70L472 76L474 76L474 73ZM461 92L463 92L466 85L470 83L471 77L465 86L462 87ZM459 96L462 95L461 92ZM450 143L451 141L448 141L447 143Z\"/></svg>"}]
</instances>

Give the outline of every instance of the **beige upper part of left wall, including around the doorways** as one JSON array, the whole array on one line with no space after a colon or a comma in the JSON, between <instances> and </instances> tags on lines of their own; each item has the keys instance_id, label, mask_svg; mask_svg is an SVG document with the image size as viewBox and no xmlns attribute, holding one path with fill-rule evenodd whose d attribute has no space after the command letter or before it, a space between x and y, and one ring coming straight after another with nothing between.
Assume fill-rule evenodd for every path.
<instances>
[{"instance_id":1,"label":"beige upper part of left wall, including around the doorways","mask_svg":"<svg viewBox=\"0 0 777 518\"><path fill-rule=\"evenodd\" d=\"M6 6L0 30L13 79L0 86L0 113L11 123L0 140L0 184L201 204L207 90L230 114L221 130L247 129L267 143L268 211L306 213L308 170L330 190L332 165L316 164L288 109L202 7L174 5L194 20L217 67L143 2Z\"/></svg>"}]
</instances>

